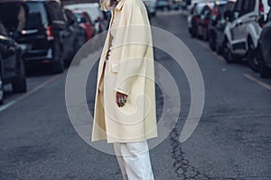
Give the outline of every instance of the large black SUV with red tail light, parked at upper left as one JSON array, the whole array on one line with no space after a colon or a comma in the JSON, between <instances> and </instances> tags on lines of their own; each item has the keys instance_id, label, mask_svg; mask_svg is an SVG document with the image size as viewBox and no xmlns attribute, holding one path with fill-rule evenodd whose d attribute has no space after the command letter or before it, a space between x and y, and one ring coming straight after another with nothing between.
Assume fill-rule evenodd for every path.
<instances>
[{"instance_id":1,"label":"large black SUV with red tail light, parked at upper left","mask_svg":"<svg viewBox=\"0 0 271 180\"><path fill-rule=\"evenodd\" d=\"M73 55L70 24L58 0L1 0L0 20L23 48L25 63L50 63L61 73Z\"/></svg>"}]
</instances>

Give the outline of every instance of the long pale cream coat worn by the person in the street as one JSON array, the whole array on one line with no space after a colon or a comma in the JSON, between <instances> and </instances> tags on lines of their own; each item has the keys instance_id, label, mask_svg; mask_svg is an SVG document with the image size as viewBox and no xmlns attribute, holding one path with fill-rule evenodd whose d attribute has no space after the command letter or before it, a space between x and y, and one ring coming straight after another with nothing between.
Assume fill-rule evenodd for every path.
<instances>
[{"instance_id":1,"label":"long pale cream coat worn by the person in the street","mask_svg":"<svg viewBox=\"0 0 271 180\"><path fill-rule=\"evenodd\" d=\"M145 4L119 0L112 13L98 65L91 140L136 142L157 137L154 49ZM123 107L117 106L117 91L128 95Z\"/></svg>"}]
</instances>

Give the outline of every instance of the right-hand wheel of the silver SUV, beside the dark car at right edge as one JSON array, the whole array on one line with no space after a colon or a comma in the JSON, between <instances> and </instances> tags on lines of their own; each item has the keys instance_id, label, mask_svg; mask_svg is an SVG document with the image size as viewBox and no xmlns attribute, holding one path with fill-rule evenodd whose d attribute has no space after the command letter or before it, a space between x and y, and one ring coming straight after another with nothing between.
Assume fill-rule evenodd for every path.
<instances>
[{"instance_id":1,"label":"right-hand wheel of the silver SUV, beside the dark car at right edge","mask_svg":"<svg viewBox=\"0 0 271 180\"><path fill-rule=\"evenodd\" d=\"M251 40L248 41L248 66L255 72L259 72L259 58L257 56L257 49L254 47Z\"/></svg>"}]
</instances>

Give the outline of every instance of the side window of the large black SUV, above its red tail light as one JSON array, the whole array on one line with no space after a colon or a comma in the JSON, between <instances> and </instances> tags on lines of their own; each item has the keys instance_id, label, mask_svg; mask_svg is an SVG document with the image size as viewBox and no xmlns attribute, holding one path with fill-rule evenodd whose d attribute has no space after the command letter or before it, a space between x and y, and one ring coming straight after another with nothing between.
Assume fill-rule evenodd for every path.
<instances>
[{"instance_id":1,"label":"side window of the large black SUV, above its red tail light","mask_svg":"<svg viewBox=\"0 0 271 180\"><path fill-rule=\"evenodd\" d=\"M64 16L62 14L61 6L59 3L51 1L47 3L48 13L50 14L51 21L61 21L64 22Z\"/></svg>"}]
</instances>

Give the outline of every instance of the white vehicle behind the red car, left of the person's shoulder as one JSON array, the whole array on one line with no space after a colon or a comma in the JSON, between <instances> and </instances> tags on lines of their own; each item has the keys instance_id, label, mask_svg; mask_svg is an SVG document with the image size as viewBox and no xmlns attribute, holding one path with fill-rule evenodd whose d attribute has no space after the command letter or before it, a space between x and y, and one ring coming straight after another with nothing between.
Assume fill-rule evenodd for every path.
<instances>
[{"instance_id":1,"label":"white vehicle behind the red car, left of the person's shoulder","mask_svg":"<svg viewBox=\"0 0 271 180\"><path fill-rule=\"evenodd\" d=\"M106 30L107 23L104 22L104 14L102 13L98 3L68 4L65 5L65 7L70 10L81 10L89 14L97 32Z\"/></svg>"}]
</instances>

